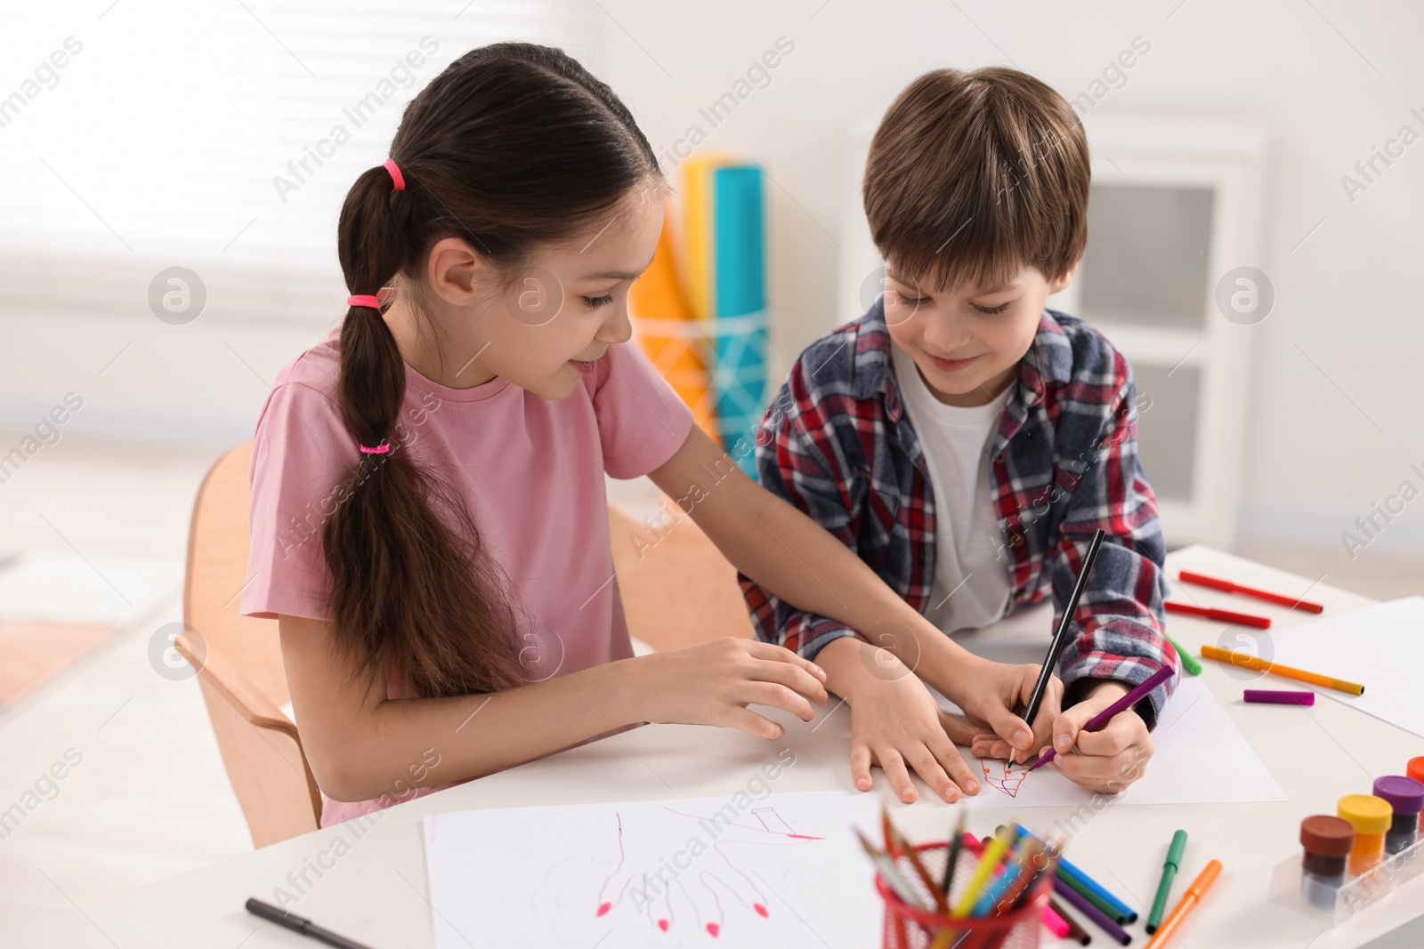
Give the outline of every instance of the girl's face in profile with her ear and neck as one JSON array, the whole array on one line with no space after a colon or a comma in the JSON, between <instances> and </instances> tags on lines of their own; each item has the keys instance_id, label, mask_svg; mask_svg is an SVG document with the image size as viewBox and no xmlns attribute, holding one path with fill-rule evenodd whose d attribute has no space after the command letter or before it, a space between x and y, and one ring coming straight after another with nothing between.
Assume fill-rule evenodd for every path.
<instances>
[{"instance_id":1,"label":"girl's face in profile with her ear and neck","mask_svg":"<svg viewBox=\"0 0 1424 949\"><path fill-rule=\"evenodd\" d=\"M652 260L662 212L662 189L639 185L604 221L541 249L513 279L459 238L437 242L427 279L440 339L414 332L397 297L386 319L402 354L453 388L498 377L567 398L609 346L632 337L628 287Z\"/></svg>"}]
</instances>

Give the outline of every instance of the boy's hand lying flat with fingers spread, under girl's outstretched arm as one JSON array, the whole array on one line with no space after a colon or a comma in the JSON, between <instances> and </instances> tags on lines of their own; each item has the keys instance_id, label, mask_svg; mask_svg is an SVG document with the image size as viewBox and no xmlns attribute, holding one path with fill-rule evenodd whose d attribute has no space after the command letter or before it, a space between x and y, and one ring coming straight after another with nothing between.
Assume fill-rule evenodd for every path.
<instances>
[{"instance_id":1,"label":"boy's hand lying flat with fingers spread, under girl's outstretched arm","mask_svg":"<svg viewBox=\"0 0 1424 949\"><path fill-rule=\"evenodd\" d=\"M946 801L963 788L978 794L980 783L954 741L970 728L940 711L924 683L889 650L859 639L837 639L816 656L827 686L850 706L850 780L862 791L873 785L870 765L884 768L896 795L918 798L910 768Z\"/></svg>"}]
</instances>

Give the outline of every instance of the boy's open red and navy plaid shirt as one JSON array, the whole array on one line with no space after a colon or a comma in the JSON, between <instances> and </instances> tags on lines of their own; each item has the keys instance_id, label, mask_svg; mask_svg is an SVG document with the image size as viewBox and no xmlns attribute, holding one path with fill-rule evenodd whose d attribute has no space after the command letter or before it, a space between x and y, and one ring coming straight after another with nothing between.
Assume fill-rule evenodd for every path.
<instances>
[{"instance_id":1,"label":"boy's open red and navy plaid shirt","mask_svg":"<svg viewBox=\"0 0 1424 949\"><path fill-rule=\"evenodd\" d=\"M924 613L936 502L890 361L881 303L812 343L762 420L762 485L836 535ZM1005 401L1007 397L1007 401ZM1064 647L1065 686L1138 684L1176 653L1162 637L1166 575L1156 498L1138 462L1136 384L1106 339L1045 309L991 447L988 477L1014 589L1008 612L1072 592L1095 528L1106 532ZM844 625L799 610L738 573L759 639L815 659ZM1057 623L1057 617L1055 617ZM859 636L864 639L864 636ZM1151 696L1155 724L1173 680Z\"/></svg>"}]
</instances>

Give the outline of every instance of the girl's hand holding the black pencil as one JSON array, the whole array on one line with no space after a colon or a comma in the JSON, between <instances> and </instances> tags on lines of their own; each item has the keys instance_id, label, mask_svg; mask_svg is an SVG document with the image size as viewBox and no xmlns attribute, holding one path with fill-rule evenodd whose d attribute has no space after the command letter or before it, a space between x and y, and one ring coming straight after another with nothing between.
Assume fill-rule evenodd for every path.
<instances>
[{"instance_id":1,"label":"girl's hand holding the black pencil","mask_svg":"<svg viewBox=\"0 0 1424 949\"><path fill-rule=\"evenodd\" d=\"M957 694L946 691L944 696L964 710L971 724L978 726L967 741L970 751L981 758L1024 763L1037 757L1034 748L1048 744L1062 706L1064 683L1058 676L1048 679L1032 731L1014 711L1028 706L1040 669L1032 663L1010 666L987 659L975 659L964 667L958 676L963 684L951 690Z\"/></svg>"}]
</instances>

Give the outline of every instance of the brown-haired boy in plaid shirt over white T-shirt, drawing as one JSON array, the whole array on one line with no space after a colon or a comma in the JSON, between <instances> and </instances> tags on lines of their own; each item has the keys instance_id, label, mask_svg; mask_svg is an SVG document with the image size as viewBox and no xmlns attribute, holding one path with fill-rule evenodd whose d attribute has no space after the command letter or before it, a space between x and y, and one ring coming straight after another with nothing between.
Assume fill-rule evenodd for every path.
<instances>
[{"instance_id":1,"label":"brown-haired boy in plaid shirt over white T-shirt, drawing","mask_svg":"<svg viewBox=\"0 0 1424 949\"><path fill-rule=\"evenodd\" d=\"M1082 726L1176 656L1162 637L1165 548L1136 455L1132 370L1091 326L1044 309L1087 245L1088 182L1082 125L1038 80L993 67L911 83L880 122L863 184L884 296L800 354L756 461L763 487L941 633L1049 589L1062 610L1094 529L1106 531L1057 670L1062 710L1051 699L1030 723L1032 748L987 728L967 743L1024 761L1051 736L1052 767L1116 792L1152 754L1171 682L1104 730ZM758 636L815 659L852 704L856 761L856 697L836 673L852 677L843 656L863 656L866 636L738 579ZM890 649L904 660L906 646L916 642ZM881 765L897 783L900 763Z\"/></svg>"}]
</instances>

